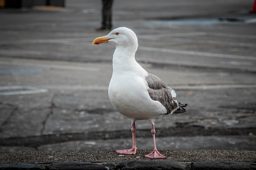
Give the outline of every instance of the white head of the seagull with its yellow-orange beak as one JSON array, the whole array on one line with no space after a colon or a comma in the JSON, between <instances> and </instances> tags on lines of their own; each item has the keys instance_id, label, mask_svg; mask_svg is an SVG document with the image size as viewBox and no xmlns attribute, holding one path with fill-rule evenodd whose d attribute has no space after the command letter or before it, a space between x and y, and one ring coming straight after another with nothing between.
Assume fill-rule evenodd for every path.
<instances>
[{"instance_id":1,"label":"white head of the seagull with its yellow-orange beak","mask_svg":"<svg viewBox=\"0 0 256 170\"><path fill-rule=\"evenodd\" d=\"M138 39L136 34L129 28L120 27L113 29L106 36L97 37L93 44L108 42L116 47L138 48Z\"/></svg>"}]
</instances>

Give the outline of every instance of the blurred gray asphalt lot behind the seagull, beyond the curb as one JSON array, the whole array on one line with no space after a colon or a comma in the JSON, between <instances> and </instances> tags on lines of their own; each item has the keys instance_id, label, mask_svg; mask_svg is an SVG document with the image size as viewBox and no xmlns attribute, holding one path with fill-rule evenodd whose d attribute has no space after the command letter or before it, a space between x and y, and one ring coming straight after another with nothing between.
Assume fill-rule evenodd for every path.
<instances>
[{"instance_id":1,"label":"blurred gray asphalt lot behind the seagull, beyond the curb","mask_svg":"<svg viewBox=\"0 0 256 170\"><path fill-rule=\"evenodd\" d=\"M156 121L158 149L256 150L255 0L0 0L0 152L127 149L130 120L107 94L112 28L138 37L136 60L188 103ZM138 149L153 149L137 121Z\"/></svg>"}]
</instances>

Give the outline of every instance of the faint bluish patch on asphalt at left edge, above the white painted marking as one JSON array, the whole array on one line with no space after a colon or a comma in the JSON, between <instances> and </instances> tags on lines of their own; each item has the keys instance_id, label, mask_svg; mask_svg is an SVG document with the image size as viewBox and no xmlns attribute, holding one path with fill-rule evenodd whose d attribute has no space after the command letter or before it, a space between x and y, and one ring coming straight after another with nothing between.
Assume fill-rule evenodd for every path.
<instances>
[{"instance_id":1,"label":"faint bluish patch on asphalt at left edge, above the white painted marking","mask_svg":"<svg viewBox=\"0 0 256 170\"><path fill-rule=\"evenodd\" d=\"M2 75L29 75L45 70L45 68L0 66Z\"/></svg>"}]
</instances>

